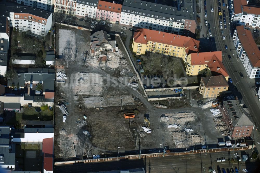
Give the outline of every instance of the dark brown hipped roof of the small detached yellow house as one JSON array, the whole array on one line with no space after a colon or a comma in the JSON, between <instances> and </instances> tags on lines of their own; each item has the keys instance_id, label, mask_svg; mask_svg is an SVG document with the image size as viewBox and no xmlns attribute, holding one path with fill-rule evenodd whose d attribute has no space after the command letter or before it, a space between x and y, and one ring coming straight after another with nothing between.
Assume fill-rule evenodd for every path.
<instances>
[{"instance_id":1,"label":"dark brown hipped roof of the small detached yellow house","mask_svg":"<svg viewBox=\"0 0 260 173\"><path fill-rule=\"evenodd\" d=\"M206 88L228 86L226 79L222 75L202 77L201 80Z\"/></svg>"}]
</instances>

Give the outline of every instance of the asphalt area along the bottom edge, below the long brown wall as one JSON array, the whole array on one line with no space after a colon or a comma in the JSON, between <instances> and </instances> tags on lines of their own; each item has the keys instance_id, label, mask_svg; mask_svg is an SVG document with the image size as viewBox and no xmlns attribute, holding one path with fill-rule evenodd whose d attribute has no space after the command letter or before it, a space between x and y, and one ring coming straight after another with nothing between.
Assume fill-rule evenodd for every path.
<instances>
[{"instance_id":1,"label":"asphalt area along the bottom edge, below the long brown wall","mask_svg":"<svg viewBox=\"0 0 260 173\"><path fill-rule=\"evenodd\" d=\"M233 164L229 162L228 158L232 158L233 154L238 154L239 157L244 154L250 154L251 150L239 152L214 152L193 155L177 155L165 157L148 157L136 160L122 159L113 162L99 162L99 163L77 163L73 165L55 166L54 171L60 172L94 172L94 171L108 171L108 170L124 170L132 168L144 168L146 172L208 172L209 167L215 170L225 168L231 170L237 167L238 169L248 169L248 172L259 172L259 162L239 162ZM226 162L217 162L217 158L224 157Z\"/></svg>"}]
</instances>

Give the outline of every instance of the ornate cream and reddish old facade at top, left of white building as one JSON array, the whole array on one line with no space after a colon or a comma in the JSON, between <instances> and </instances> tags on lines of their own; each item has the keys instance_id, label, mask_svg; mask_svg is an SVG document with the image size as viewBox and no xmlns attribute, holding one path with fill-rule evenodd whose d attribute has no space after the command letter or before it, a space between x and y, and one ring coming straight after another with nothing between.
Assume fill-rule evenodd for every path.
<instances>
[{"instance_id":1,"label":"ornate cream and reddish old facade at top, left of white building","mask_svg":"<svg viewBox=\"0 0 260 173\"><path fill-rule=\"evenodd\" d=\"M55 0L54 12L62 12L74 16L76 14L76 0Z\"/></svg>"}]
</instances>

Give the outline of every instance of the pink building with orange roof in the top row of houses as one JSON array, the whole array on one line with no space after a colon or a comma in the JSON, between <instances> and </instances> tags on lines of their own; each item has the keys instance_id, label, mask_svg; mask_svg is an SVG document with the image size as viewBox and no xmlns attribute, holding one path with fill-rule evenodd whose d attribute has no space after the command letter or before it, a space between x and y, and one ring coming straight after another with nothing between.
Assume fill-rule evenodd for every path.
<instances>
[{"instance_id":1,"label":"pink building with orange roof in the top row of houses","mask_svg":"<svg viewBox=\"0 0 260 173\"><path fill-rule=\"evenodd\" d=\"M116 4L115 1L106 2L99 1L97 4L97 14L96 18L98 20L107 20L110 23L118 23L120 22L122 5Z\"/></svg>"}]
</instances>

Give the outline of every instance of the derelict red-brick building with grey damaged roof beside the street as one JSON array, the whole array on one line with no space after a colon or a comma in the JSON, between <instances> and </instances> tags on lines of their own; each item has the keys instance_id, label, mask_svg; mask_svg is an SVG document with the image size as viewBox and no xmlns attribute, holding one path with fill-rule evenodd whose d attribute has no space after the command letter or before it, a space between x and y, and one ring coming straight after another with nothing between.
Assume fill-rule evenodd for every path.
<instances>
[{"instance_id":1,"label":"derelict red-brick building with grey damaged roof beside the street","mask_svg":"<svg viewBox=\"0 0 260 173\"><path fill-rule=\"evenodd\" d=\"M242 138L250 136L255 125L252 122L249 111L244 105L243 100L223 101L218 106L232 138Z\"/></svg>"}]
</instances>

